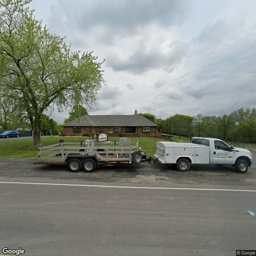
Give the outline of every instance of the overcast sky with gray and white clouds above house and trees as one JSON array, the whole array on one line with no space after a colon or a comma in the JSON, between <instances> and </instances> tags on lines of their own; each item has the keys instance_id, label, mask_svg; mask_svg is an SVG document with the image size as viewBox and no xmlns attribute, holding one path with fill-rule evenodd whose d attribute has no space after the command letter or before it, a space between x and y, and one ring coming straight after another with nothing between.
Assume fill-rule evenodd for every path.
<instances>
[{"instance_id":1,"label":"overcast sky with gray and white clouds above house and trees","mask_svg":"<svg viewBox=\"0 0 256 256\"><path fill-rule=\"evenodd\" d=\"M93 51L106 86L89 114L219 115L256 107L255 0L33 0L35 16ZM59 123L67 112L53 113Z\"/></svg>"}]
</instances>

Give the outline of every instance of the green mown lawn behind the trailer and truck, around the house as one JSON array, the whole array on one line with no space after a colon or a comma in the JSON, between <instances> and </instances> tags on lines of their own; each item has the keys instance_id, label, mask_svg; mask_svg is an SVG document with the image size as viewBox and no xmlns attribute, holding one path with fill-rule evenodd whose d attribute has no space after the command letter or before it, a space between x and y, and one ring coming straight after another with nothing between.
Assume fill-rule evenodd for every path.
<instances>
[{"instance_id":1,"label":"green mown lawn behind the trailer and truck, around the house","mask_svg":"<svg viewBox=\"0 0 256 256\"><path fill-rule=\"evenodd\" d=\"M65 142L80 142L81 140L86 140L88 137L48 137L42 136L41 143L42 146L48 146L52 144L59 143L59 140L64 140ZM136 142L137 138L130 138L132 142ZM173 138L178 142L190 142L186 137L174 136ZM109 137L109 140L114 142L119 141L119 137ZM147 157L154 156L156 153L156 142L164 141L156 138L138 138L139 147L146 152ZM234 146L234 142L227 142L230 146ZM248 144L238 143L240 146L249 148ZM236 147L240 147L235 144ZM38 158L38 149L32 148L33 140L16 140L16 141L6 141L0 142L0 158ZM250 149L256 149L256 144L252 144Z\"/></svg>"}]
</instances>

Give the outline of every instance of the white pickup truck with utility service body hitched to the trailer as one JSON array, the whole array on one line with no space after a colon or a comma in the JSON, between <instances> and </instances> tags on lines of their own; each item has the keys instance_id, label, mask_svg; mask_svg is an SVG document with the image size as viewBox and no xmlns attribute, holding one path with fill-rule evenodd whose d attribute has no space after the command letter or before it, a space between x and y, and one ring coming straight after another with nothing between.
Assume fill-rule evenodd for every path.
<instances>
[{"instance_id":1,"label":"white pickup truck with utility service body hitched to the trailer","mask_svg":"<svg viewBox=\"0 0 256 256\"><path fill-rule=\"evenodd\" d=\"M176 164L181 172L190 164L228 164L245 173L252 164L252 153L234 148L215 138L194 137L191 143L157 142L154 157L162 164Z\"/></svg>"}]
</instances>

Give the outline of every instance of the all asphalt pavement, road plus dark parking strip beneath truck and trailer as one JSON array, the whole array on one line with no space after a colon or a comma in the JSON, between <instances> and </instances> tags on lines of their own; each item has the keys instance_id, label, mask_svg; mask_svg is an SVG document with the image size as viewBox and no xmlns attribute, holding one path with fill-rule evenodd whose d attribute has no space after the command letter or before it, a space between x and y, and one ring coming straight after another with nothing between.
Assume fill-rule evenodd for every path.
<instances>
[{"instance_id":1,"label":"all asphalt pavement, road plus dark parking strip beneath truck and trailer","mask_svg":"<svg viewBox=\"0 0 256 256\"><path fill-rule=\"evenodd\" d=\"M25 256L256 250L256 218L246 213L256 213L255 163L240 174L231 166L178 172L146 162L74 173L33 162L0 159L1 250L22 248Z\"/></svg>"}]
</instances>

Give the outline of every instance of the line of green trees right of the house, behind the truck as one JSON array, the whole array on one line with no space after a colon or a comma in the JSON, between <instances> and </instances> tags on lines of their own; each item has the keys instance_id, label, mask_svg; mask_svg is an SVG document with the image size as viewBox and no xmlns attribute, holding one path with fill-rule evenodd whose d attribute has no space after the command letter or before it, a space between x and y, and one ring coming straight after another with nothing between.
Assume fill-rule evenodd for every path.
<instances>
[{"instance_id":1,"label":"line of green trees right of the house, behind the truck","mask_svg":"<svg viewBox=\"0 0 256 256\"><path fill-rule=\"evenodd\" d=\"M141 115L148 118L147 116L151 114ZM166 120L152 116L148 119L157 124L158 130L162 133L186 136L188 138L202 136L234 142L256 142L256 108L247 108L246 110L240 108L231 114L222 114L220 116L176 114L166 118Z\"/></svg>"}]
</instances>

